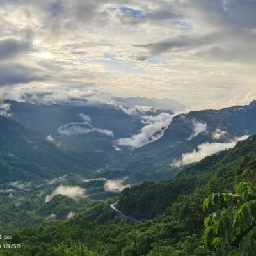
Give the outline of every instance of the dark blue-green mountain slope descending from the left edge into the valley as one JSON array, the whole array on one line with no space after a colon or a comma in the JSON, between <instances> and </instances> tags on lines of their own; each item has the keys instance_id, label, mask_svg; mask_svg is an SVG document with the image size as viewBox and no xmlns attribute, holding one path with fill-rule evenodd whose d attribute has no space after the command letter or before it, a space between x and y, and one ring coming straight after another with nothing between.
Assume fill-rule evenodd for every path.
<instances>
[{"instance_id":1,"label":"dark blue-green mountain slope descending from the left edge into the valley","mask_svg":"<svg viewBox=\"0 0 256 256\"><path fill-rule=\"evenodd\" d=\"M0 116L0 182L49 179L72 172L88 175L106 164L111 160L103 152L80 154L59 147L45 134Z\"/></svg>"}]
</instances>

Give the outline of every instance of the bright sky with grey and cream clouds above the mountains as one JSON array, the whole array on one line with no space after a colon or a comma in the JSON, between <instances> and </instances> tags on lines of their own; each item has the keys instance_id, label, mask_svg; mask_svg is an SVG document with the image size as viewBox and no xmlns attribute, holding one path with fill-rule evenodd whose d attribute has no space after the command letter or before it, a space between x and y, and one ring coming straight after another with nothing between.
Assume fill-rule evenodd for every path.
<instances>
[{"instance_id":1,"label":"bright sky with grey and cream clouds above the mountains","mask_svg":"<svg viewBox=\"0 0 256 256\"><path fill-rule=\"evenodd\" d=\"M255 0L1 0L0 96L256 99Z\"/></svg>"}]
</instances>

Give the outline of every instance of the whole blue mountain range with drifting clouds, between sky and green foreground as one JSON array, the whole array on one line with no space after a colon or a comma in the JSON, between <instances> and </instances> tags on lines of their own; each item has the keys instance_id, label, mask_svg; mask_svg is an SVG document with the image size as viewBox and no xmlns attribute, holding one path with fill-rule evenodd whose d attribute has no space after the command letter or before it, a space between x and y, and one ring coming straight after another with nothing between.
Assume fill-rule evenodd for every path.
<instances>
[{"instance_id":1,"label":"whole blue mountain range with drifting clouds, between sky and green foreground","mask_svg":"<svg viewBox=\"0 0 256 256\"><path fill-rule=\"evenodd\" d=\"M134 115L118 106L5 103L10 117L1 116L0 159L10 173L20 173L12 180L67 172L91 178L122 173L131 184L167 179L256 132L255 102L179 115L164 110ZM36 172L31 171L35 164ZM95 172L99 169L103 172Z\"/></svg>"}]
</instances>

